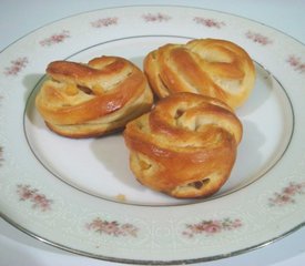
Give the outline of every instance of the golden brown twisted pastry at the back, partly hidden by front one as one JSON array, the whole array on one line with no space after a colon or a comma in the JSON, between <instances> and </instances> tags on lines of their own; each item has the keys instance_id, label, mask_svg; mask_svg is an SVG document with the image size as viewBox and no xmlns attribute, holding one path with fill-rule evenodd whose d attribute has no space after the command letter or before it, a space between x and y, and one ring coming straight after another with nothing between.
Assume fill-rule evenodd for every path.
<instances>
[{"instance_id":1,"label":"golden brown twisted pastry at the back, partly hidden by front one","mask_svg":"<svg viewBox=\"0 0 305 266\"><path fill-rule=\"evenodd\" d=\"M145 57L144 72L159 98L194 92L233 109L245 102L255 81L250 55L237 44L217 39L165 44Z\"/></svg>"}]
</instances>

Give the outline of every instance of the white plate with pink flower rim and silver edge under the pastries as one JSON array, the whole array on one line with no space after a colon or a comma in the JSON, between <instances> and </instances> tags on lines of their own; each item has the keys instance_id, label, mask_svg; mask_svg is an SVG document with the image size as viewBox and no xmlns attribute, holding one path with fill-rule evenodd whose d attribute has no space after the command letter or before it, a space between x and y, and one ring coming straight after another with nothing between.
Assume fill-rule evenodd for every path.
<instances>
[{"instance_id":1,"label":"white plate with pink flower rim and silver edge under the pastries","mask_svg":"<svg viewBox=\"0 0 305 266\"><path fill-rule=\"evenodd\" d=\"M244 139L228 182L179 201L135 182L121 134L51 133L33 99L49 62L143 57L193 38L236 42L257 80L237 110ZM124 7L38 29L0 54L0 211L53 246L132 264L211 260L265 246L305 222L305 48L261 23L187 7Z\"/></svg>"}]
</instances>

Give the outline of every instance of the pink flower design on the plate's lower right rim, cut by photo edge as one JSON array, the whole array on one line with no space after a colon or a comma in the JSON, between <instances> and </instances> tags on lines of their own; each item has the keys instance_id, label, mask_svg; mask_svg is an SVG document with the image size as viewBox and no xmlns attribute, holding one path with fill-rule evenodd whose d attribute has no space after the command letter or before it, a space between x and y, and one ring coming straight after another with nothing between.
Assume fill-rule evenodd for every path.
<instances>
[{"instance_id":1,"label":"pink flower design on the plate's lower right rim, cut by photo edge","mask_svg":"<svg viewBox=\"0 0 305 266\"><path fill-rule=\"evenodd\" d=\"M289 183L282 192L275 192L273 197L268 198L270 206L284 206L295 203L295 196L305 194L305 182L303 183Z\"/></svg>"}]
</instances>

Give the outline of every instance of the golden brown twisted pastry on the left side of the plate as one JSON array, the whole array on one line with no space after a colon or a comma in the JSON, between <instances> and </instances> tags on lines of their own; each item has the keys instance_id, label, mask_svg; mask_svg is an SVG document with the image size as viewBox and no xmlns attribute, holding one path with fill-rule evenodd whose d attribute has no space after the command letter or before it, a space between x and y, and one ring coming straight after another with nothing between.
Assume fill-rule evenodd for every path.
<instances>
[{"instance_id":1,"label":"golden brown twisted pastry on the left side of the plate","mask_svg":"<svg viewBox=\"0 0 305 266\"><path fill-rule=\"evenodd\" d=\"M88 64L54 61L35 105L47 125L69 137L103 135L149 111L152 91L144 73L118 57Z\"/></svg>"}]
</instances>

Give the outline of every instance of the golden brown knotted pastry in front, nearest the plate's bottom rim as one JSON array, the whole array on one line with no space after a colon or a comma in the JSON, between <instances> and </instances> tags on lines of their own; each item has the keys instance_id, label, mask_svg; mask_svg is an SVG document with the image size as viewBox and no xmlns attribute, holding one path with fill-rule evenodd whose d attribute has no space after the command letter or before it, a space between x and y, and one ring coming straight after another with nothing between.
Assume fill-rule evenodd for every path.
<instances>
[{"instance_id":1,"label":"golden brown knotted pastry in front, nearest the plate's bottom rim","mask_svg":"<svg viewBox=\"0 0 305 266\"><path fill-rule=\"evenodd\" d=\"M242 124L217 99L174 93L129 122L130 167L143 185L174 197L203 197L228 178Z\"/></svg>"}]
</instances>

